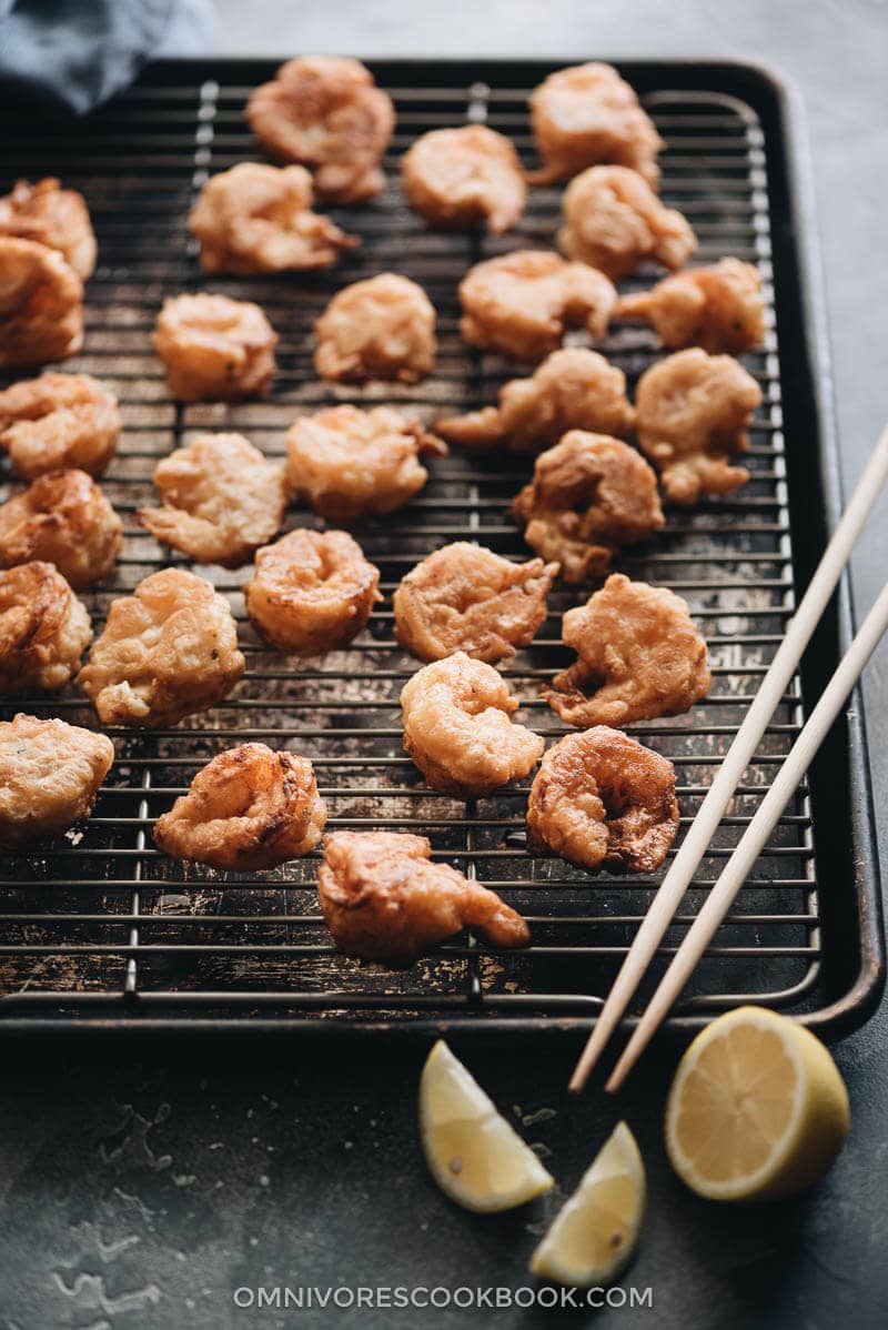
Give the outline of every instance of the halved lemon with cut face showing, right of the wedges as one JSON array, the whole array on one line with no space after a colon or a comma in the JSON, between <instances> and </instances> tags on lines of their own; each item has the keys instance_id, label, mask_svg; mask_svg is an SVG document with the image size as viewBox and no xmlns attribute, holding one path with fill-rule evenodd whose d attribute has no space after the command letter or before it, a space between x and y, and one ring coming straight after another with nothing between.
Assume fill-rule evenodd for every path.
<instances>
[{"instance_id":1,"label":"halved lemon with cut face showing, right of the wedges","mask_svg":"<svg viewBox=\"0 0 888 1330\"><path fill-rule=\"evenodd\" d=\"M738 1007L682 1057L666 1104L678 1176L714 1201L791 1196L848 1134L848 1092L819 1039L764 1007Z\"/></svg>"}]
</instances>

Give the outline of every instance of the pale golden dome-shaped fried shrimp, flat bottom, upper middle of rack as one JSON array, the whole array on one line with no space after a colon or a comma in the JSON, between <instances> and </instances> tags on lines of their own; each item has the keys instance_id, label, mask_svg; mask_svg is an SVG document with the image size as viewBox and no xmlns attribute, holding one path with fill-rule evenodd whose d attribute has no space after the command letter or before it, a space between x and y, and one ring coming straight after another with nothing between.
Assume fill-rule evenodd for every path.
<instances>
[{"instance_id":1,"label":"pale golden dome-shaped fried shrimp, flat bottom, upper middle of rack","mask_svg":"<svg viewBox=\"0 0 888 1330\"><path fill-rule=\"evenodd\" d=\"M380 273L336 291L315 323L323 379L416 383L435 368L435 306L421 286Z\"/></svg>"}]
</instances>

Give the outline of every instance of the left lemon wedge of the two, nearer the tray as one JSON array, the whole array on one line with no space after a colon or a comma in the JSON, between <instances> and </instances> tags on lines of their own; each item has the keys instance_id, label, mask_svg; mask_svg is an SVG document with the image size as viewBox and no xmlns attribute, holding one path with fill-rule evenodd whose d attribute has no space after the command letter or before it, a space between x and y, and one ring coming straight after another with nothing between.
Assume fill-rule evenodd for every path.
<instances>
[{"instance_id":1,"label":"left lemon wedge of the two, nearer the tray","mask_svg":"<svg viewBox=\"0 0 888 1330\"><path fill-rule=\"evenodd\" d=\"M443 1039L419 1083L419 1129L432 1177L467 1210L510 1210L553 1185Z\"/></svg>"}]
</instances>

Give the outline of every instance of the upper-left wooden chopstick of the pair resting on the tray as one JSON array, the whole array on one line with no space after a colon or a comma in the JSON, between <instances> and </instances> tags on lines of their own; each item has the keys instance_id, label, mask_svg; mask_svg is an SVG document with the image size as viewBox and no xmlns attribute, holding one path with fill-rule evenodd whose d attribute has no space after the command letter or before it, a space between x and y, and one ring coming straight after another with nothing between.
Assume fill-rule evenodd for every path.
<instances>
[{"instance_id":1,"label":"upper-left wooden chopstick of the pair resting on the tray","mask_svg":"<svg viewBox=\"0 0 888 1330\"><path fill-rule=\"evenodd\" d=\"M645 976L657 947L673 922L673 916L687 891L689 883L709 849L713 835L722 821L724 809L734 795L743 771L748 766L768 721L774 716L795 673L802 653L823 616L823 610L848 563L853 544L887 479L888 427L883 430L872 451L869 462L851 496L851 501L799 602L799 608L787 624L786 637L780 642L768 672L762 680L759 692L751 702L743 724L736 732L734 742L727 750L724 761L718 769L706 798L701 803L699 811L633 939L633 944L619 967L613 988L570 1077L569 1088L572 1091L580 1091L585 1085L589 1072L604 1052L633 994Z\"/></svg>"}]
</instances>

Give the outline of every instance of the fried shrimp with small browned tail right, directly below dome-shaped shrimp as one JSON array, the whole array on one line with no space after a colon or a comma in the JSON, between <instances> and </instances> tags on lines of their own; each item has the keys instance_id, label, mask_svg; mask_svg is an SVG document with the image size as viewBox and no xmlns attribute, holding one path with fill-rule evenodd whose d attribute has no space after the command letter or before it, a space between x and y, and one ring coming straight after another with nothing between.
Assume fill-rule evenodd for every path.
<instances>
[{"instance_id":1,"label":"fried shrimp with small browned tail right, directly below dome-shaped shrimp","mask_svg":"<svg viewBox=\"0 0 888 1330\"><path fill-rule=\"evenodd\" d=\"M389 407L328 407L287 431L287 483L328 521L395 512L428 480L420 456L447 444Z\"/></svg>"}]
</instances>

